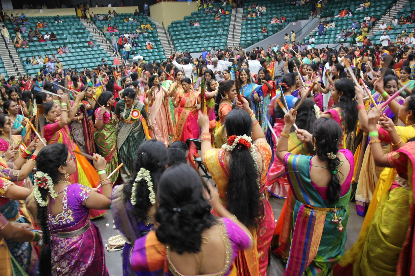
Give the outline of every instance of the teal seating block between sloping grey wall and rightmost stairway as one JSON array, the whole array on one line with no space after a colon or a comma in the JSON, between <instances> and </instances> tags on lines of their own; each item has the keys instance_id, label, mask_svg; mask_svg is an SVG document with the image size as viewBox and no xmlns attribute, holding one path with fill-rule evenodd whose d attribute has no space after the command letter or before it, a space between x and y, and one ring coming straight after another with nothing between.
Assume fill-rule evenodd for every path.
<instances>
[{"instance_id":1,"label":"teal seating block between sloping grey wall and rightmost stairway","mask_svg":"<svg viewBox=\"0 0 415 276\"><path fill-rule=\"evenodd\" d=\"M346 31L346 29L351 29L351 25L353 20L363 22L363 18L366 14L370 17L374 15L376 21L382 18L382 15L386 13L386 9L389 5L391 5L394 0L380 0L378 2L372 1L369 9L367 10L356 10L361 3L361 0L352 0L351 2L347 2L347 5L344 5L341 1L328 1L325 7L325 10L322 12L322 16L331 16L332 18L327 19L328 22L333 22L336 24L334 28L327 28L323 35L319 36L317 31L312 32L312 35L315 38L315 44L331 44L331 43L351 43L354 44L355 41L351 37L344 39L344 41L340 41L338 39L339 34L342 32L342 29ZM347 17L334 17L337 15L340 10L344 10L350 8L352 11L352 16ZM369 26L369 33L370 34L371 27ZM360 29L356 29L356 33L359 32ZM310 39L310 35L305 37L304 41ZM372 39L371 39L372 40Z\"/></svg>"}]
</instances>

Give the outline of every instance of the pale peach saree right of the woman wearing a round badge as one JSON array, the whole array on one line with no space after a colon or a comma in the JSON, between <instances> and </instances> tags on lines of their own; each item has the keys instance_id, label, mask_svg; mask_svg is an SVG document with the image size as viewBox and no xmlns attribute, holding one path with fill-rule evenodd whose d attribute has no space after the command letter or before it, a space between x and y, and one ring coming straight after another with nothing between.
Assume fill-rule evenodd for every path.
<instances>
[{"instance_id":1,"label":"pale peach saree right of the woman wearing a round badge","mask_svg":"<svg viewBox=\"0 0 415 276\"><path fill-rule=\"evenodd\" d=\"M157 140L164 143L166 148L170 142L169 135L174 134L174 126L169 105L169 96L159 87L157 91L153 91L154 103L149 107L150 122L153 123L153 134Z\"/></svg>"}]
</instances>

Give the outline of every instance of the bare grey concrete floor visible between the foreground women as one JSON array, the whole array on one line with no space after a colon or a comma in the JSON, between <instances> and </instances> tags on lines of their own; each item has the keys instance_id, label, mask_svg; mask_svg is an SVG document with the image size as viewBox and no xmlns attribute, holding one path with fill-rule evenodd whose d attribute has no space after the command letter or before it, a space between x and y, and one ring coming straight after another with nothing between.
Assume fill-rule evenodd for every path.
<instances>
[{"instance_id":1,"label":"bare grey concrete floor visible between the foreground women","mask_svg":"<svg viewBox=\"0 0 415 276\"><path fill-rule=\"evenodd\" d=\"M276 219L278 219L285 199L271 197L269 201L273 208L274 216ZM363 217L357 215L355 207L356 204L354 202L350 202L349 206L350 215L347 224L347 241L345 245L346 250L349 249L357 240L357 237L359 237L360 228L364 220ZM112 223L112 214L110 210L108 210L107 214L103 215L101 218L93 220L93 222L100 228L104 245L108 243L108 239L110 237L118 235L117 230L112 228L114 224ZM105 226L107 223L109 223L109 227ZM111 276L122 276L121 252L122 250L117 252L108 252L105 250L105 261L107 264L108 272ZM284 271L284 267L285 264L283 264L281 259L272 256L271 262L268 266L267 274L270 276L280 276Z\"/></svg>"}]
</instances>

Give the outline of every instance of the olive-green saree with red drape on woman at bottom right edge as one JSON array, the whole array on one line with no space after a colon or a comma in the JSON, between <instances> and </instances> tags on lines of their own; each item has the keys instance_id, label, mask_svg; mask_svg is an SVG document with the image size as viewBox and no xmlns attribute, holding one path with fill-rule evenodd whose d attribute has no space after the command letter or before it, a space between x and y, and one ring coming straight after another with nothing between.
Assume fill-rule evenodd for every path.
<instances>
[{"instance_id":1,"label":"olive-green saree with red drape on woman at bottom right edge","mask_svg":"<svg viewBox=\"0 0 415 276\"><path fill-rule=\"evenodd\" d=\"M392 182L384 187L385 194L369 223L364 225L358 240L336 266L338 275L413 275L414 143L406 143L396 152L406 157L406 160L397 160L395 163L399 162L403 167L408 163L408 187L398 186L396 179L395 187L391 189Z\"/></svg>"}]
</instances>

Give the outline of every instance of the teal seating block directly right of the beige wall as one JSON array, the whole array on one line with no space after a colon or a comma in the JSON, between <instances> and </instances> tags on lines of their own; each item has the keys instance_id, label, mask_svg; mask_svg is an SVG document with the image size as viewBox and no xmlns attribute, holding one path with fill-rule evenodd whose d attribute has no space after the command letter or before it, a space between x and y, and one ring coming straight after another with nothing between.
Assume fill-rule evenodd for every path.
<instances>
[{"instance_id":1,"label":"teal seating block directly right of the beige wall","mask_svg":"<svg viewBox=\"0 0 415 276\"><path fill-rule=\"evenodd\" d=\"M210 49L213 46L216 49L225 48L232 7L231 5L222 6L222 2L213 5L229 11L229 15L222 15L220 22L217 22L214 13L205 14L201 8L198 12L192 12L191 15L185 16L183 20L172 21L168 25L168 32L176 51L188 50L190 53L195 53L203 51L203 48ZM200 26L190 27L192 19L193 22L198 20Z\"/></svg>"}]
</instances>

